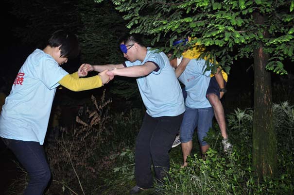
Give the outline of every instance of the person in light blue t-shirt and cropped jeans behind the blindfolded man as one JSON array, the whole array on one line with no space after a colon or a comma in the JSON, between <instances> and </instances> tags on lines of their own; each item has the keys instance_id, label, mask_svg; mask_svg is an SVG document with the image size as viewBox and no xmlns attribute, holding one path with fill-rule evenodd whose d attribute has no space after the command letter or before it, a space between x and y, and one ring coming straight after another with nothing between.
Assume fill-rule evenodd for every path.
<instances>
[{"instance_id":1,"label":"person in light blue t-shirt and cropped jeans behind the blindfolded man","mask_svg":"<svg viewBox=\"0 0 294 195\"><path fill-rule=\"evenodd\" d=\"M181 59L175 58L171 60L171 65L176 67L180 62ZM187 166L186 160L192 149L192 137L196 127L202 154L205 154L209 148L208 143L203 138L207 135L209 128L212 127L213 108L206 97L210 71L205 70L205 60L192 59L178 78L185 85L187 92L185 100L186 112L180 127L183 152L182 167Z\"/></svg>"}]
</instances>

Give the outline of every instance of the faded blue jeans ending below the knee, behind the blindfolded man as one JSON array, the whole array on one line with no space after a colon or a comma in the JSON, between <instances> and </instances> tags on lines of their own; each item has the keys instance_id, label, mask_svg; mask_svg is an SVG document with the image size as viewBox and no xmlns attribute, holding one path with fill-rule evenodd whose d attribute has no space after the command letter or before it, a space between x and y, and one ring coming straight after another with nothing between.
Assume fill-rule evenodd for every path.
<instances>
[{"instance_id":1,"label":"faded blue jeans ending below the knee, behind the blindfolded man","mask_svg":"<svg viewBox=\"0 0 294 195\"><path fill-rule=\"evenodd\" d=\"M203 141L209 128L212 127L213 108L192 109L186 106L183 122L180 127L180 140L187 143L192 140L193 133L197 127L197 135L200 146L206 146L208 143Z\"/></svg>"}]
</instances>

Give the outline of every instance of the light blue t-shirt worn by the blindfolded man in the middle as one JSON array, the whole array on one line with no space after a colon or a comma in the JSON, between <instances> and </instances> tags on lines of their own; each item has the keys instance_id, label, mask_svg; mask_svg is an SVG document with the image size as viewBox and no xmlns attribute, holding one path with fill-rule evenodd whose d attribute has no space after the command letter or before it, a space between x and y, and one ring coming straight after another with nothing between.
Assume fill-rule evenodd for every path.
<instances>
[{"instance_id":1,"label":"light blue t-shirt worn by the blindfolded man in the middle","mask_svg":"<svg viewBox=\"0 0 294 195\"><path fill-rule=\"evenodd\" d=\"M152 117L177 116L185 112L184 98L180 83L170 65L168 57L147 48L143 62L124 62L125 66L143 65L146 62L154 63L157 68L149 75L137 78L138 88L147 109Z\"/></svg>"}]
</instances>

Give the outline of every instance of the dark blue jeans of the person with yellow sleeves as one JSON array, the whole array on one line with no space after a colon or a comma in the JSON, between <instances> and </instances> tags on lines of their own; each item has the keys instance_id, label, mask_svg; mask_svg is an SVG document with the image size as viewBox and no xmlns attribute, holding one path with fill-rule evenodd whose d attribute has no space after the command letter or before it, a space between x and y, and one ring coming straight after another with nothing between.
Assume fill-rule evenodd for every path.
<instances>
[{"instance_id":1,"label":"dark blue jeans of the person with yellow sleeves","mask_svg":"<svg viewBox=\"0 0 294 195\"><path fill-rule=\"evenodd\" d=\"M4 144L12 150L18 161L30 176L30 182L24 195L43 195L51 172L46 161L44 148L38 142L2 138Z\"/></svg>"}]
</instances>

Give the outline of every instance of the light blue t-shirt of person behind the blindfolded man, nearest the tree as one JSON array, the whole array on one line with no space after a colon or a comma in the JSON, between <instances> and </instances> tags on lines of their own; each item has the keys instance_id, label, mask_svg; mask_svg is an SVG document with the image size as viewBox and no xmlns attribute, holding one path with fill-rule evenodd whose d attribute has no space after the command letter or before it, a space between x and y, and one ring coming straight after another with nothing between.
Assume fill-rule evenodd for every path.
<instances>
[{"instance_id":1,"label":"light blue t-shirt of person behind the blindfolded man, nearest the tree","mask_svg":"<svg viewBox=\"0 0 294 195\"><path fill-rule=\"evenodd\" d=\"M185 90L187 92L185 104L189 108L198 109L211 107L206 97L211 71L205 71L205 69L205 60L192 59L179 77L179 80L185 85Z\"/></svg>"}]
</instances>

